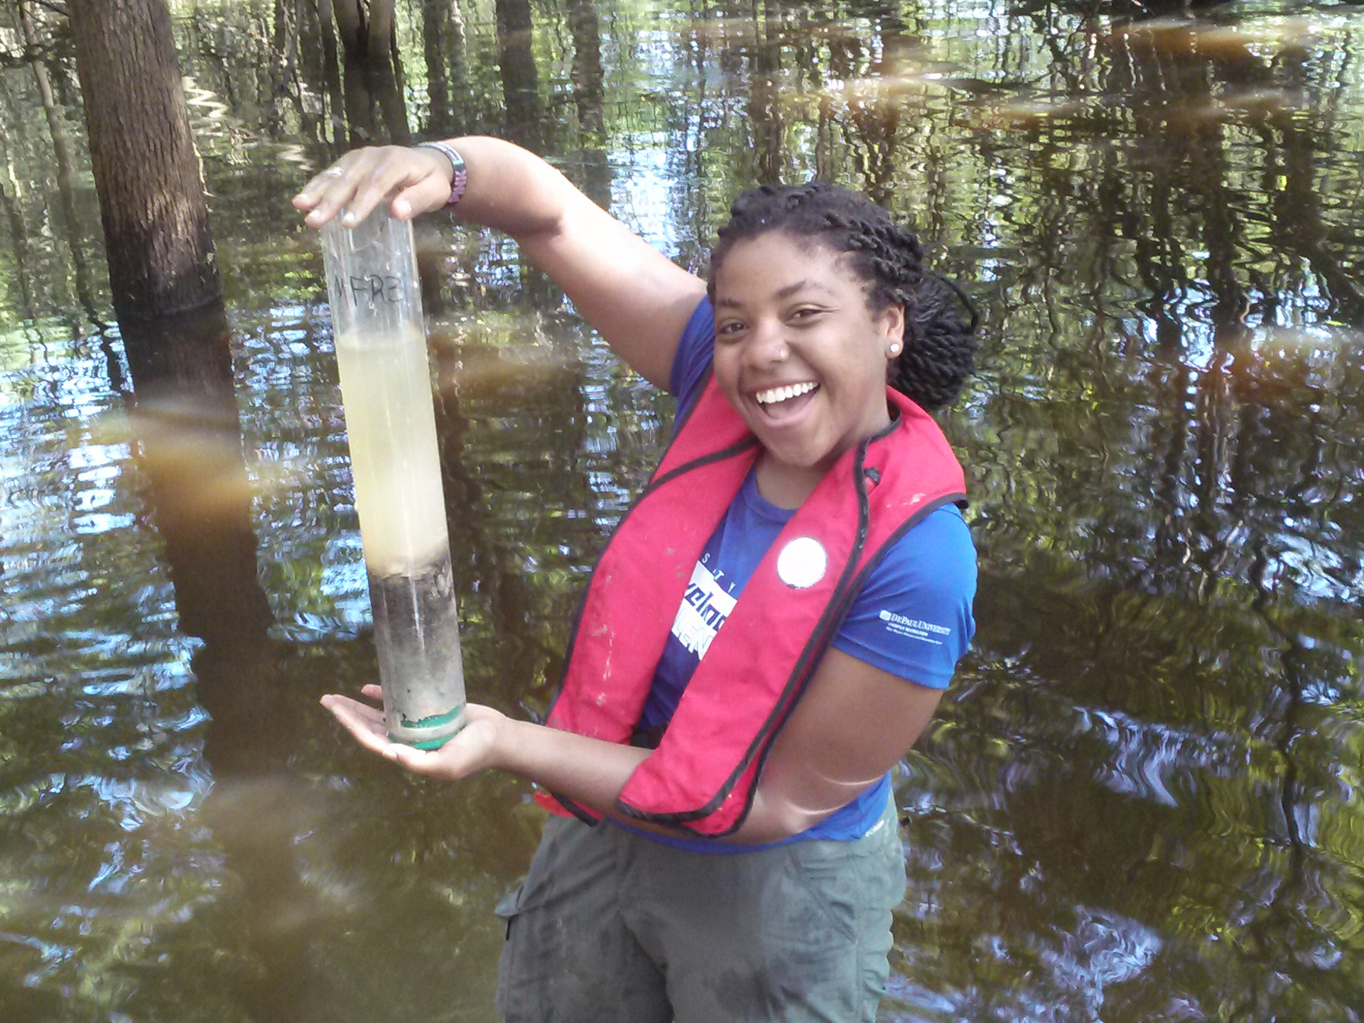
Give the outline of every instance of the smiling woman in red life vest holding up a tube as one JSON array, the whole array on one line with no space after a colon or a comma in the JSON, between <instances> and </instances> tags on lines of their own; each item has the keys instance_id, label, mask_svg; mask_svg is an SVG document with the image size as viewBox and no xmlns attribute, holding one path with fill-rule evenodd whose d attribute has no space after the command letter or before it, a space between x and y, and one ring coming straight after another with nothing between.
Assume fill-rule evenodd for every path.
<instances>
[{"instance_id":1,"label":"smiling woman in red life vest holding up a tube","mask_svg":"<svg viewBox=\"0 0 1364 1023\"><path fill-rule=\"evenodd\" d=\"M488 138L348 153L295 205L319 226L385 201L507 232L678 396L544 726L471 704L421 752L371 704L322 701L409 771L512 771L557 814L498 908L499 1011L872 1020L904 889L889 771L974 629L962 471L919 408L971 368L955 288L884 210L827 186L745 194L702 281Z\"/></svg>"}]
</instances>

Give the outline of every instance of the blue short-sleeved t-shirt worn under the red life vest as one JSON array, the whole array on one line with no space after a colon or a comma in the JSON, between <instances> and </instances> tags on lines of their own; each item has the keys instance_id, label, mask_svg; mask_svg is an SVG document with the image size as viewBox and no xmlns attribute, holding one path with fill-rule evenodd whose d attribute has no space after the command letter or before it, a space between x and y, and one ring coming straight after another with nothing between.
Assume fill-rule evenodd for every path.
<instances>
[{"instance_id":1,"label":"blue short-sleeved t-shirt worn under the red life vest","mask_svg":"<svg viewBox=\"0 0 1364 1023\"><path fill-rule=\"evenodd\" d=\"M679 416L704 387L713 349L715 316L711 303L702 300L682 331L672 361L670 390L678 398ZM692 573L640 716L641 728L667 724L672 717L711 640L794 514L794 509L764 499L756 475L749 473ZM960 510L945 505L887 551L858 593L833 647L910 683L947 689L975 632L974 596L975 547ZM887 773L847 806L786 840L862 837L880 820L889 795ZM698 853L768 847L640 833Z\"/></svg>"}]
</instances>

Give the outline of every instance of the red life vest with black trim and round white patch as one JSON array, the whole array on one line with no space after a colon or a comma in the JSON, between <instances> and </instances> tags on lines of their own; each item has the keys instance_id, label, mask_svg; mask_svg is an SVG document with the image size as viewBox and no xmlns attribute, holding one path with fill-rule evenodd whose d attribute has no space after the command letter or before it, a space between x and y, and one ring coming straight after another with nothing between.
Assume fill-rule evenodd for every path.
<instances>
[{"instance_id":1,"label":"red life vest with black trim and round white patch","mask_svg":"<svg viewBox=\"0 0 1364 1023\"><path fill-rule=\"evenodd\" d=\"M619 813L708 837L738 829L772 741L872 569L923 516L964 499L962 466L937 423L899 391L887 396L898 419L844 451L791 516L657 749L626 782ZM712 378L597 561L546 724L630 741L697 559L761 450ZM599 818L565 797L537 799Z\"/></svg>"}]
</instances>

